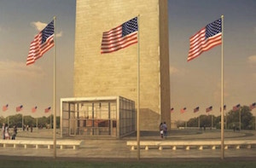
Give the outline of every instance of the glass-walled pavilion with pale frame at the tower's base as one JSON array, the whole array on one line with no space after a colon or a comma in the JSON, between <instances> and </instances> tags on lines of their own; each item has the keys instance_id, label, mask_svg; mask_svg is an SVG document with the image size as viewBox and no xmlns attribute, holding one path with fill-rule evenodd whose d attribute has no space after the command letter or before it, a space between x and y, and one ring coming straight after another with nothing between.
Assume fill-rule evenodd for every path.
<instances>
[{"instance_id":1,"label":"glass-walled pavilion with pale frame at the tower's base","mask_svg":"<svg viewBox=\"0 0 256 168\"><path fill-rule=\"evenodd\" d=\"M135 118L135 102L122 96L61 98L62 137L127 136Z\"/></svg>"}]
</instances>

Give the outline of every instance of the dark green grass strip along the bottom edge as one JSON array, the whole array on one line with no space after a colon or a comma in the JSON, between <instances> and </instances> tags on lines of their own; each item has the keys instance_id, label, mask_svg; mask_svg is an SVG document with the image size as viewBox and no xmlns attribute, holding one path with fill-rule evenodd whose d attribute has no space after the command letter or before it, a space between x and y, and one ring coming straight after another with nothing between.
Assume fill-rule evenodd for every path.
<instances>
[{"instance_id":1,"label":"dark green grass strip along the bottom edge","mask_svg":"<svg viewBox=\"0 0 256 168\"><path fill-rule=\"evenodd\" d=\"M175 168L254 168L256 161L133 161L133 162L101 162L101 161L54 161L54 160L0 160L0 167L35 167L35 168L84 168L84 167L121 167L121 168L143 168L143 167L175 167Z\"/></svg>"}]
</instances>

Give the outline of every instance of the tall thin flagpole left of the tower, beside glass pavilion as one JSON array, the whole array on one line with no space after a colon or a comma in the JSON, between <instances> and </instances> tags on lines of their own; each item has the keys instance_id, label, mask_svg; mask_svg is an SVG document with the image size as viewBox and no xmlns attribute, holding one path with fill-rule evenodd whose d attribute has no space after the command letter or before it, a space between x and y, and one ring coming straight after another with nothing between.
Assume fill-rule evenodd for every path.
<instances>
[{"instance_id":1,"label":"tall thin flagpole left of the tower, beside glass pavilion","mask_svg":"<svg viewBox=\"0 0 256 168\"><path fill-rule=\"evenodd\" d=\"M56 17L54 16L54 30L56 31ZM55 36L55 31L54 31L54 96L53 96L53 111L54 111L54 136L53 136L53 141L54 141L54 159L56 158L56 36Z\"/></svg>"}]
</instances>

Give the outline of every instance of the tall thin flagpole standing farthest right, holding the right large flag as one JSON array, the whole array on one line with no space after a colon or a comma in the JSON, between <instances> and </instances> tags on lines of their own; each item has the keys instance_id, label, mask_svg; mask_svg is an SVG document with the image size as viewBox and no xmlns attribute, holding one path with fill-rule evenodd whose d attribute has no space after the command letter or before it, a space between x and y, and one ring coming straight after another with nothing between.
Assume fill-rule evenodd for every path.
<instances>
[{"instance_id":1,"label":"tall thin flagpole standing farthest right, holding the right large flag","mask_svg":"<svg viewBox=\"0 0 256 168\"><path fill-rule=\"evenodd\" d=\"M221 159L224 159L224 15L221 15Z\"/></svg>"}]
</instances>

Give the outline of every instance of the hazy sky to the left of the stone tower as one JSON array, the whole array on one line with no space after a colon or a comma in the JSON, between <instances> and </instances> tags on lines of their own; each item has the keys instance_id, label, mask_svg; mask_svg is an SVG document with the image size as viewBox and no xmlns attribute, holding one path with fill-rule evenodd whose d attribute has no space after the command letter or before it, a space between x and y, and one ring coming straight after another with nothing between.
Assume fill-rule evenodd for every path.
<instances>
[{"instance_id":1,"label":"hazy sky to the left of the stone tower","mask_svg":"<svg viewBox=\"0 0 256 168\"><path fill-rule=\"evenodd\" d=\"M26 67L34 36L56 16L57 104L60 97L73 96L73 56L76 2L73 0L0 1L0 105L1 114L44 115L53 106L53 55L50 49L35 64ZM2 107L9 104L9 110ZM38 106L36 113L32 107ZM49 115L48 113L47 115Z\"/></svg>"}]
</instances>

